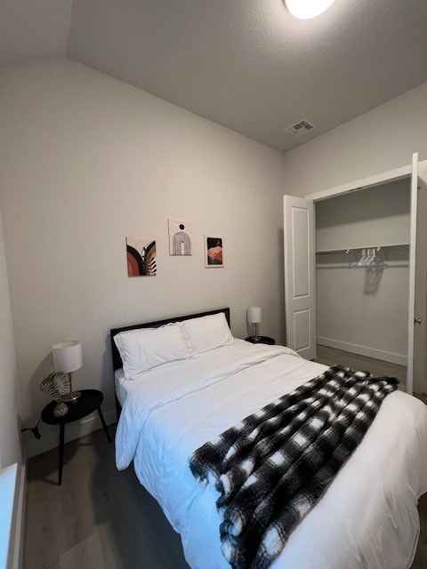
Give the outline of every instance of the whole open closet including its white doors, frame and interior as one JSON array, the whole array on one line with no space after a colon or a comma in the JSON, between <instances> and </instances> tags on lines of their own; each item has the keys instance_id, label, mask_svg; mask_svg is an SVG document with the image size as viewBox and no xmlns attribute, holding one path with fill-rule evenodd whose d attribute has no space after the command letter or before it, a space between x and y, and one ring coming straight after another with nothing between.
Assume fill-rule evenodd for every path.
<instances>
[{"instance_id":1,"label":"whole open closet including its white doors, frame and interior","mask_svg":"<svg viewBox=\"0 0 427 569\"><path fill-rule=\"evenodd\" d=\"M285 195L283 212L286 345L427 394L427 160Z\"/></svg>"}]
</instances>

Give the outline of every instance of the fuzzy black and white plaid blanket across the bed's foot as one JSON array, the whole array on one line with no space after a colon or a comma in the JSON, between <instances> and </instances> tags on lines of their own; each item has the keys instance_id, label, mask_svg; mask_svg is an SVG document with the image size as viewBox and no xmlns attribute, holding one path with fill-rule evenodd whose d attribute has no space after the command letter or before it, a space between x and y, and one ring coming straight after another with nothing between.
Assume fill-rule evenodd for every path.
<instances>
[{"instance_id":1,"label":"fuzzy black and white plaid blanket across the bed's foot","mask_svg":"<svg viewBox=\"0 0 427 569\"><path fill-rule=\"evenodd\" d=\"M398 383L334 365L190 456L193 475L221 493L222 553L233 569L278 557Z\"/></svg>"}]
</instances>

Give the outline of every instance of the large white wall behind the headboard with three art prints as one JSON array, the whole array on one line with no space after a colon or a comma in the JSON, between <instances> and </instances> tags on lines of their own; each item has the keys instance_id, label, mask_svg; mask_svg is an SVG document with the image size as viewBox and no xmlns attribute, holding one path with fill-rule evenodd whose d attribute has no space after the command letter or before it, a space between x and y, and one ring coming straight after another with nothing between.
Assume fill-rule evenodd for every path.
<instances>
[{"instance_id":1,"label":"large white wall behind the headboard with three art prints","mask_svg":"<svg viewBox=\"0 0 427 569\"><path fill-rule=\"evenodd\" d=\"M232 332L245 337L256 304L262 333L281 339L279 152L71 60L2 79L1 200L24 421L46 403L38 386L58 341L83 341L73 384L102 389L109 410L110 327L230 306ZM192 257L169 256L168 218L192 221ZM223 237L224 268L205 268L206 234ZM157 239L157 276L127 276L125 236Z\"/></svg>"}]
</instances>

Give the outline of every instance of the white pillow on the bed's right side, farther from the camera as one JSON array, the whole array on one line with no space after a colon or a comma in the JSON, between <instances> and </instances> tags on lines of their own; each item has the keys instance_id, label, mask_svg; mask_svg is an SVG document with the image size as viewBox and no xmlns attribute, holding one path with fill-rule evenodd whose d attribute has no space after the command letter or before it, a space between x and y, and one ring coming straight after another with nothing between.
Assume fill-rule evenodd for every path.
<instances>
[{"instance_id":1,"label":"white pillow on the bed's right side, farther from the camera","mask_svg":"<svg viewBox=\"0 0 427 569\"><path fill-rule=\"evenodd\" d=\"M223 312L183 320L181 327L197 354L234 342Z\"/></svg>"}]
</instances>

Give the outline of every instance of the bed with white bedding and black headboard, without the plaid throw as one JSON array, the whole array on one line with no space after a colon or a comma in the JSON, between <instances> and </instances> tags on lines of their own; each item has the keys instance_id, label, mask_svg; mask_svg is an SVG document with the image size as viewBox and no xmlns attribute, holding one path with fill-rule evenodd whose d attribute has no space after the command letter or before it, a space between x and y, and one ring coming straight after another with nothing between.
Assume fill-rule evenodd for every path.
<instances>
[{"instance_id":1,"label":"bed with white bedding and black headboard, without the plaid throw","mask_svg":"<svg viewBox=\"0 0 427 569\"><path fill-rule=\"evenodd\" d=\"M197 482L189 456L248 414L327 369L283 346L235 339L223 326L211 337L204 322L216 322L222 315L230 324L230 310L218 309L111 330L121 412L117 468L133 463L141 485L180 533L192 569L230 565L221 551L218 492ZM133 367L123 345L117 349L116 342L129 342L138 331L159 328L172 333L177 322L187 323L189 345L175 345L171 336L166 343L174 355L169 357L153 344L148 369L144 362L138 372L141 363ZM427 407L395 391L384 399L361 444L294 527L270 566L409 569L419 535L417 501L426 491Z\"/></svg>"}]
</instances>

